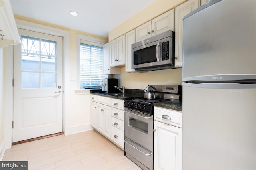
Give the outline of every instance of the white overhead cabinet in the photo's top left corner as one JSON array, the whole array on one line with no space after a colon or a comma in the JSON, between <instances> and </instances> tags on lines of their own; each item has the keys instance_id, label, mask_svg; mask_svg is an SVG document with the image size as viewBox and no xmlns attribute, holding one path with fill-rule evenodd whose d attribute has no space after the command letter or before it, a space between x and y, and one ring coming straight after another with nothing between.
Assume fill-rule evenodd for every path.
<instances>
[{"instance_id":1,"label":"white overhead cabinet in the photo's top left corner","mask_svg":"<svg viewBox=\"0 0 256 170\"><path fill-rule=\"evenodd\" d=\"M0 0L0 48L21 43L10 0Z\"/></svg>"}]
</instances>

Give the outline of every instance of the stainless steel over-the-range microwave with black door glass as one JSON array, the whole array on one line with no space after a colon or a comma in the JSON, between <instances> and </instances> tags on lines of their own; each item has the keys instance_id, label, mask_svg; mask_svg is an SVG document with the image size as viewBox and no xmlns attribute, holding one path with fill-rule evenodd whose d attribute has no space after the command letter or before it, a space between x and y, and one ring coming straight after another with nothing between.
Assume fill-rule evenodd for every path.
<instances>
[{"instance_id":1,"label":"stainless steel over-the-range microwave with black door glass","mask_svg":"<svg viewBox=\"0 0 256 170\"><path fill-rule=\"evenodd\" d=\"M132 68L141 71L175 68L174 32L163 32L132 44Z\"/></svg>"}]
</instances>

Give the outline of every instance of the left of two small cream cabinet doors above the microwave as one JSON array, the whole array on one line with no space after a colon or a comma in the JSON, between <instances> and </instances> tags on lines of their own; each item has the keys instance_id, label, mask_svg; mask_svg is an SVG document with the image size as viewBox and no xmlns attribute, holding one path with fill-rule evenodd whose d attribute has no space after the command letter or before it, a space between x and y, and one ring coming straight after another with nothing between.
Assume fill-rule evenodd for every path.
<instances>
[{"instance_id":1,"label":"left of two small cream cabinet doors above the microwave","mask_svg":"<svg viewBox=\"0 0 256 170\"><path fill-rule=\"evenodd\" d=\"M145 24L138 26L135 29L136 32L136 42L139 42L141 40L145 40L146 38L150 38L152 36L151 34L152 31L152 25L151 25L151 21L146 22Z\"/></svg>"}]
</instances>

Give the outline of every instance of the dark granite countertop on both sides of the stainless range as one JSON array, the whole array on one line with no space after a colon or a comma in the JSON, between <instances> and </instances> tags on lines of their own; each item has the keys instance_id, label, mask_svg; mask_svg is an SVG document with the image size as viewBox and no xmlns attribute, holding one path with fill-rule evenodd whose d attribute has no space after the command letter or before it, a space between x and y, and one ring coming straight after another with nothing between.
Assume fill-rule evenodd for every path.
<instances>
[{"instance_id":1,"label":"dark granite countertop on both sides of the stainless range","mask_svg":"<svg viewBox=\"0 0 256 170\"><path fill-rule=\"evenodd\" d=\"M99 90L91 90L90 93L94 95L100 95L100 96L110 97L110 98L120 99L120 100L124 100L127 97L144 96L144 91L138 90L138 89L125 89L124 95L122 93L118 93L118 95L114 95L114 93L104 93ZM157 102L157 103L154 103L154 106L162 107L165 109L172 109L175 111L182 111L182 101L178 101L178 100Z\"/></svg>"}]
</instances>

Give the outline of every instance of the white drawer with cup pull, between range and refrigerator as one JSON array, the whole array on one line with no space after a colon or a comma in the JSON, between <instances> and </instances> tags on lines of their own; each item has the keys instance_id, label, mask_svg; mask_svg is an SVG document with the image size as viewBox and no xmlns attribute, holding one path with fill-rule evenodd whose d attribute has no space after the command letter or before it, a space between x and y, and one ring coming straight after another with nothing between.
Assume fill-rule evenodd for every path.
<instances>
[{"instance_id":1,"label":"white drawer with cup pull, between range and refrigerator","mask_svg":"<svg viewBox=\"0 0 256 170\"><path fill-rule=\"evenodd\" d=\"M154 120L182 127L182 112L154 107Z\"/></svg>"}]
</instances>

